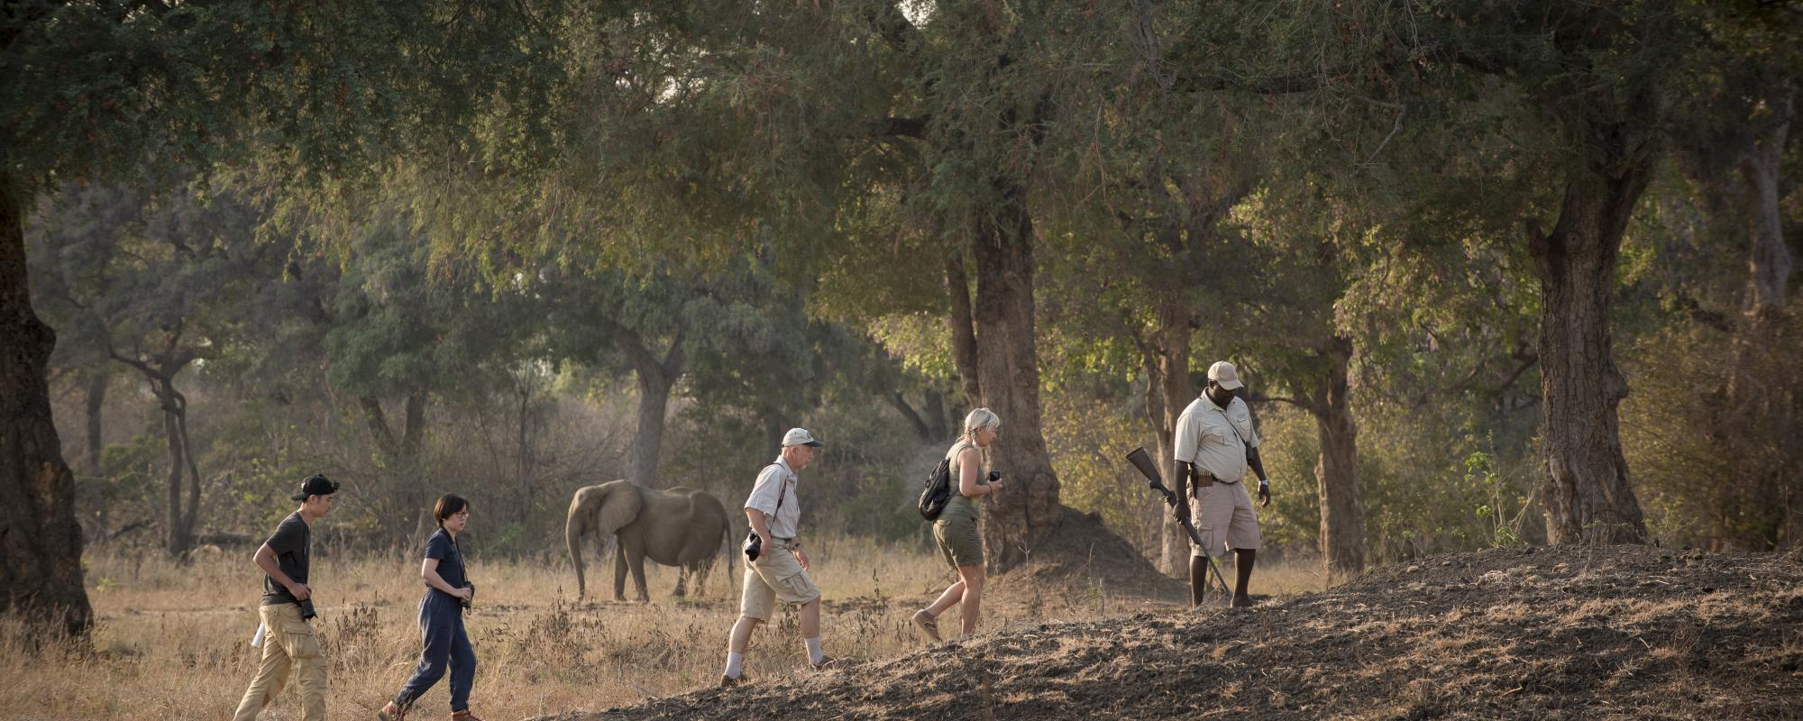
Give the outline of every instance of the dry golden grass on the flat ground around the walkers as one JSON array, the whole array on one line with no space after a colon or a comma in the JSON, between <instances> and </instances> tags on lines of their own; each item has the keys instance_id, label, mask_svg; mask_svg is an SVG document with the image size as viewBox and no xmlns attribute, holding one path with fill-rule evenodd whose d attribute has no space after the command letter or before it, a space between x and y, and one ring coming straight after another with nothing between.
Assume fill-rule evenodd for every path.
<instances>
[{"instance_id":1,"label":"dry golden grass on the flat ground around the walkers","mask_svg":"<svg viewBox=\"0 0 1803 721\"><path fill-rule=\"evenodd\" d=\"M828 604L828 653L892 658L921 647L907 622L914 607L950 582L923 548L876 546L862 539L817 539L815 580ZM220 719L236 707L256 667L260 573L249 553L202 557L178 568L151 555L87 559L90 598L99 618L94 654L25 653L16 629L0 627L0 717L9 719ZM317 557L314 580L319 633L330 660L328 714L368 719L393 696L416 662L420 598L416 562L395 557ZM591 566L590 588L611 595L611 559ZM743 566L736 566L739 571ZM469 616L480 658L472 708L490 719L519 719L573 708L609 708L712 685L725 660L725 636L737 616L737 573L719 570L700 598L673 598L674 570L649 566L653 602L577 602L573 573L555 566L471 562L480 588ZM1311 570L1262 568L1264 593L1320 589ZM1049 591L995 584L984 631L1044 620L1094 620L1145 611L1149 602L1114 598L1105 588ZM631 586L627 586L631 593ZM1172 606L1161 606L1172 611ZM956 615L956 611L954 611ZM793 616L754 636L746 671L764 680L802 672ZM957 622L947 618L945 629ZM772 633L775 631L775 633ZM440 681L418 708L447 712ZM265 719L297 719L285 692Z\"/></svg>"}]
</instances>

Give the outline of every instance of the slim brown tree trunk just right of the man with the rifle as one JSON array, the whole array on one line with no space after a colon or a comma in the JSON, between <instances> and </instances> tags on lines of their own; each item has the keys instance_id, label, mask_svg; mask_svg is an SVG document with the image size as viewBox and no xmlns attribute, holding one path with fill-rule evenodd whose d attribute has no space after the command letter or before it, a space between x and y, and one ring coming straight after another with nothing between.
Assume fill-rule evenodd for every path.
<instances>
[{"instance_id":1,"label":"slim brown tree trunk just right of the man with the rifle","mask_svg":"<svg viewBox=\"0 0 1803 721\"><path fill-rule=\"evenodd\" d=\"M1309 398L1322 456L1314 463L1314 483L1322 497L1322 562L1329 575L1365 570L1365 512L1358 490L1358 425L1347 375L1352 366L1352 341L1334 337L1327 350L1329 373Z\"/></svg>"}]
</instances>

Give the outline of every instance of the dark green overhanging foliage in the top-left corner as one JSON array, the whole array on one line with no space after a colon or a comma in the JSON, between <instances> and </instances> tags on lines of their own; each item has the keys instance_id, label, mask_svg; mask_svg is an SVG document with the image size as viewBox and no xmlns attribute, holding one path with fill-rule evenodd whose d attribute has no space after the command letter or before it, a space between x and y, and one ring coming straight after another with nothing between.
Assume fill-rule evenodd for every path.
<instances>
[{"instance_id":1,"label":"dark green overhanging foliage in the top-left corner","mask_svg":"<svg viewBox=\"0 0 1803 721\"><path fill-rule=\"evenodd\" d=\"M370 160L467 141L548 141L557 2L121 4L32 0L0 18L11 202L50 184L256 159L278 177L362 178Z\"/></svg>"}]
</instances>

